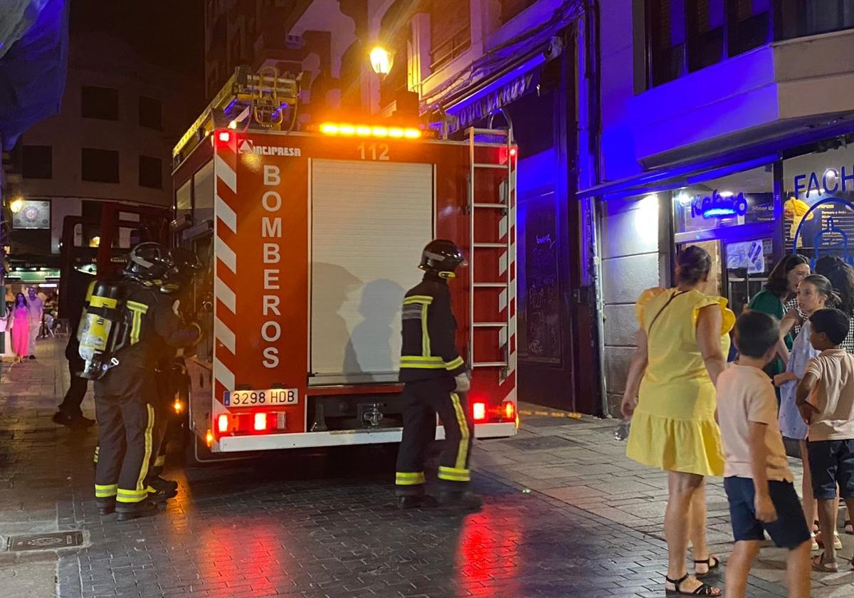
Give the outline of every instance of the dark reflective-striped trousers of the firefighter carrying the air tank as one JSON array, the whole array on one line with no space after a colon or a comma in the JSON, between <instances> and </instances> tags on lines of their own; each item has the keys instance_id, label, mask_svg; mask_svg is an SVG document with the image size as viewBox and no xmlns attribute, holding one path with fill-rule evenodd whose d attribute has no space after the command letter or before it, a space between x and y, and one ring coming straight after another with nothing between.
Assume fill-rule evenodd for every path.
<instances>
[{"instance_id":1,"label":"dark reflective-striped trousers of the firefighter carrying the air tank","mask_svg":"<svg viewBox=\"0 0 854 598\"><path fill-rule=\"evenodd\" d=\"M98 450L95 497L128 506L148 496L145 478L153 447L156 389L149 372L126 379L122 392L95 385Z\"/></svg>"}]
</instances>

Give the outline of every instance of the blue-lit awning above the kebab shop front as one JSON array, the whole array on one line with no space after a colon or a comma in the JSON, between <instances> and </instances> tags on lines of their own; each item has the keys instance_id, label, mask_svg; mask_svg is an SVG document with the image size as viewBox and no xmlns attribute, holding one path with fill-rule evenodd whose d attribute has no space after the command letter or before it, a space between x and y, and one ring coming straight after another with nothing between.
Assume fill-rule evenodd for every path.
<instances>
[{"instance_id":1,"label":"blue-lit awning above the kebab shop front","mask_svg":"<svg viewBox=\"0 0 854 598\"><path fill-rule=\"evenodd\" d=\"M604 196L606 199L618 199L652 193L670 191L704 180L717 179L728 174L740 173L751 168L770 164L785 157L787 150L809 146L828 138L854 132L854 122L844 118L825 119L822 124L793 122L787 127L775 125L774 133L763 137L759 128L740 135L756 139L733 146L734 139L718 139L717 153L700 153L695 148L681 148L668 152L670 155L693 154L690 160L673 162L650 168L646 172L625 179L617 179L594 185L576 192L576 197ZM716 141L716 140L712 140ZM728 143L729 142L729 143ZM704 142L708 147L710 142Z\"/></svg>"}]
</instances>

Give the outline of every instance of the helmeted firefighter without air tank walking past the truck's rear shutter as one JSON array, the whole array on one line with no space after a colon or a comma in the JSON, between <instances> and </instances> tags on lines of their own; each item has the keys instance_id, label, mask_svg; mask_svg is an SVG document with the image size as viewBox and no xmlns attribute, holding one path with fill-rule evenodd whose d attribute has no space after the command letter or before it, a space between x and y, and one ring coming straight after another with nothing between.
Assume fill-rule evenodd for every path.
<instances>
[{"instance_id":1,"label":"helmeted firefighter without air tank walking past the truck's rear shutter","mask_svg":"<svg viewBox=\"0 0 854 598\"><path fill-rule=\"evenodd\" d=\"M436 505L424 492L424 453L436 438L436 413L445 427L439 502L475 510L481 507L480 498L469 490L474 426L463 393L470 382L465 361L454 347L457 322L447 285L462 264L463 255L453 242L431 241L418 266L424 270L424 279L403 299L403 437L395 478L399 508Z\"/></svg>"}]
</instances>

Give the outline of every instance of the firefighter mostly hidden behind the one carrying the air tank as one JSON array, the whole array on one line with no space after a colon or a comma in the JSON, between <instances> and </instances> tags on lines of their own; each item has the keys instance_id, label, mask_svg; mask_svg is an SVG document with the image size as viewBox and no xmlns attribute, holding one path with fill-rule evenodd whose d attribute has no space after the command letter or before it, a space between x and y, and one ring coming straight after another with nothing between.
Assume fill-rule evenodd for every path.
<instances>
[{"instance_id":1,"label":"firefighter mostly hidden behind the one carrying the air tank","mask_svg":"<svg viewBox=\"0 0 854 598\"><path fill-rule=\"evenodd\" d=\"M167 294L172 302L173 313L180 318L178 308L181 299L190 290L193 278L202 269L202 262L189 249L170 249L169 261L171 267L164 277L161 292ZM149 476L146 480L146 490L153 501L165 501L178 495L178 482L161 478L163 466L166 464L167 427L172 412L175 395L186 378L184 367L184 349L167 347L157 361L155 367L155 384L157 395L155 402L155 426L152 431L153 445L149 460Z\"/></svg>"}]
</instances>

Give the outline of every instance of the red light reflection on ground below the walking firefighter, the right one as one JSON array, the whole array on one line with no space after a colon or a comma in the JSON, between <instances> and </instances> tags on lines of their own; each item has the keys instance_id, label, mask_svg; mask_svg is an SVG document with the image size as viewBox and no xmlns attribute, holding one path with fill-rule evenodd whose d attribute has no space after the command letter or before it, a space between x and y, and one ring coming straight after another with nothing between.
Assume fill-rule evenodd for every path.
<instances>
[{"instance_id":1,"label":"red light reflection on ground below the walking firefighter, the right one","mask_svg":"<svg viewBox=\"0 0 854 598\"><path fill-rule=\"evenodd\" d=\"M500 590L502 595L518 595L512 579L518 573L522 538L522 519L513 508L489 505L466 517L456 558L460 592L491 596Z\"/></svg>"}]
</instances>

